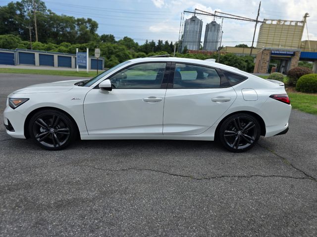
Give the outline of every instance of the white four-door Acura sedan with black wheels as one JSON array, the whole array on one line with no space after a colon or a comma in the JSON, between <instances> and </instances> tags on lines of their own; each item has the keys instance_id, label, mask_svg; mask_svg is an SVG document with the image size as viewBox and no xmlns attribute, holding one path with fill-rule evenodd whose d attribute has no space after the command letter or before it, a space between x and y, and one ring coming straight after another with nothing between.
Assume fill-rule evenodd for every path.
<instances>
[{"instance_id":1,"label":"white four-door Acura sedan with black wheels","mask_svg":"<svg viewBox=\"0 0 317 237\"><path fill-rule=\"evenodd\" d=\"M288 130L290 100L280 81L236 68L173 57L138 58L97 77L14 91L4 110L7 133L48 150L76 136L92 139L217 139L252 148L260 135Z\"/></svg>"}]
</instances>

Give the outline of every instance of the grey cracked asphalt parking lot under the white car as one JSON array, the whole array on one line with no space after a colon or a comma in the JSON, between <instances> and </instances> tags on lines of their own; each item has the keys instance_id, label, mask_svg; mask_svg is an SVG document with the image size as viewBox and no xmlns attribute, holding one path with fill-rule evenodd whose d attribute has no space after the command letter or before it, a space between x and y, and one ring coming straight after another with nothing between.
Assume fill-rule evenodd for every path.
<instances>
[{"instance_id":1,"label":"grey cracked asphalt parking lot under the white car","mask_svg":"<svg viewBox=\"0 0 317 237\"><path fill-rule=\"evenodd\" d=\"M63 78L0 74L6 96ZM233 154L205 141L78 141L50 152L0 125L0 236L317 236L317 116Z\"/></svg>"}]
</instances>

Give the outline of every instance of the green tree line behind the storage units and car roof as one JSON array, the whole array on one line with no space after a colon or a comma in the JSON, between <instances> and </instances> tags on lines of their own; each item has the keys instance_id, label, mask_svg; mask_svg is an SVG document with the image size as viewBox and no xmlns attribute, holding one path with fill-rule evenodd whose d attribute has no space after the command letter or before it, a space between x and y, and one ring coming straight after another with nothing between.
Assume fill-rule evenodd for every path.
<instances>
[{"instance_id":1,"label":"green tree line behind the storage units and car roof","mask_svg":"<svg viewBox=\"0 0 317 237\"><path fill-rule=\"evenodd\" d=\"M105 57L105 67L110 68L123 61L154 56L159 54L172 54L173 42L146 40L143 44L135 42L129 37L116 40L111 34L98 35L98 23L90 18L75 18L66 15L57 15L47 9L41 0L21 0L0 6L0 48L5 49L31 49L31 38L35 39L35 19L37 19L37 35L39 41L32 42L32 49L61 53L76 53L89 48L90 55L95 48L101 49L101 56ZM30 28L29 28L30 27ZM176 48L178 48L176 44ZM217 58L217 55L176 53L176 57L196 59ZM239 57L233 54L220 56L220 63L239 68L243 71L253 72L253 57Z\"/></svg>"}]
</instances>

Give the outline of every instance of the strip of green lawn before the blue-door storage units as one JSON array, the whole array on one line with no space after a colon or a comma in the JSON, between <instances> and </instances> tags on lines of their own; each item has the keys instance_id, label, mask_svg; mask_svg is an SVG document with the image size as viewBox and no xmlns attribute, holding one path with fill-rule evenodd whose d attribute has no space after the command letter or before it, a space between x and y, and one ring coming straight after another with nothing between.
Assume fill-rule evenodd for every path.
<instances>
[{"instance_id":1,"label":"strip of green lawn before the blue-door storage units","mask_svg":"<svg viewBox=\"0 0 317 237\"><path fill-rule=\"evenodd\" d=\"M98 71L101 74L103 71ZM40 75L55 75L55 76L70 76L70 77L85 77L92 78L97 75L97 72L76 72L74 71L58 71L58 70L41 70L41 69L20 69L20 68L0 68L0 73L19 73L19 74L40 74Z\"/></svg>"}]
</instances>

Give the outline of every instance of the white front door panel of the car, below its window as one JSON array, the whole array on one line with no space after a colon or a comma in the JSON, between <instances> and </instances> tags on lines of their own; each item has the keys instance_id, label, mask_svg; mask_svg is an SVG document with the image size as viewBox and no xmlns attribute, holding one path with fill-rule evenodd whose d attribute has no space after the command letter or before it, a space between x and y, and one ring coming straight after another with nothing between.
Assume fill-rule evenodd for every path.
<instances>
[{"instance_id":1,"label":"white front door panel of the car, below its window","mask_svg":"<svg viewBox=\"0 0 317 237\"><path fill-rule=\"evenodd\" d=\"M84 102L89 135L162 135L165 91L92 89ZM151 101L154 97L161 100Z\"/></svg>"}]
</instances>

